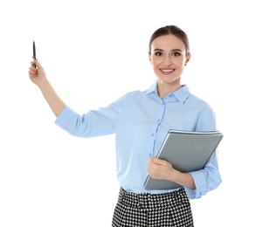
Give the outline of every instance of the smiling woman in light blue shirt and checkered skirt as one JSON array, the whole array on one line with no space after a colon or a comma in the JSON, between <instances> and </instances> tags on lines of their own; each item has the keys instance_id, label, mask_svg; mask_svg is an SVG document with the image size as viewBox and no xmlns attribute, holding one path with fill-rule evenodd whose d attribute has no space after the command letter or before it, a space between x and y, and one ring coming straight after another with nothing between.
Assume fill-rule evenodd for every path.
<instances>
[{"instance_id":1,"label":"smiling woman in light blue shirt and checkered skirt","mask_svg":"<svg viewBox=\"0 0 256 227\"><path fill-rule=\"evenodd\" d=\"M85 138L115 134L121 189L112 226L193 226L190 199L204 196L221 182L217 153L211 155L204 169L190 173L181 173L155 156L170 128L216 130L215 114L181 84L184 67L190 61L184 31L176 25L157 29L149 40L149 61L156 81L148 90L126 93L109 106L82 115L67 107L55 93L38 59L31 62L29 76L45 96L59 127ZM147 174L183 187L144 189Z\"/></svg>"}]
</instances>

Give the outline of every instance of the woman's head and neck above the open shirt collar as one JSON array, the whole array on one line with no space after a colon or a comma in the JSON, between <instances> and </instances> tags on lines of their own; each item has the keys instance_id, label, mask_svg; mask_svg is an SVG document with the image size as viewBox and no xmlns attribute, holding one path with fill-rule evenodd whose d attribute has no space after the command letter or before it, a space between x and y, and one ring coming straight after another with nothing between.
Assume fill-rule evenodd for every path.
<instances>
[{"instance_id":1,"label":"woman's head and neck above the open shirt collar","mask_svg":"<svg viewBox=\"0 0 256 227\"><path fill-rule=\"evenodd\" d=\"M157 77L159 95L163 99L181 87L181 75L190 60L190 52L188 38L183 36L184 42L179 38L181 35L176 36L180 31L170 26L162 30L166 33L159 32L161 35L155 36L149 43L149 60Z\"/></svg>"}]
</instances>

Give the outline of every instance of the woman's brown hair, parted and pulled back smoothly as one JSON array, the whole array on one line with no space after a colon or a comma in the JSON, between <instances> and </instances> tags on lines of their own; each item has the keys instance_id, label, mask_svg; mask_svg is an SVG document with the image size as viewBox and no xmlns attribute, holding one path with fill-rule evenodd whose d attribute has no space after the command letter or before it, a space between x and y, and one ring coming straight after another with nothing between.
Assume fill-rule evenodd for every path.
<instances>
[{"instance_id":1,"label":"woman's brown hair, parted and pulled back smoothly","mask_svg":"<svg viewBox=\"0 0 256 227\"><path fill-rule=\"evenodd\" d=\"M187 34L176 25L167 25L165 27L157 29L152 34L149 40L149 54L151 54L151 45L155 38L170 35L170 34L176 36L177 38L180 38L183 41L183 44L185 45L185 48L186 48L186 55L188 55L190 53L189 38Z\"/></svg>"}]
</instances>

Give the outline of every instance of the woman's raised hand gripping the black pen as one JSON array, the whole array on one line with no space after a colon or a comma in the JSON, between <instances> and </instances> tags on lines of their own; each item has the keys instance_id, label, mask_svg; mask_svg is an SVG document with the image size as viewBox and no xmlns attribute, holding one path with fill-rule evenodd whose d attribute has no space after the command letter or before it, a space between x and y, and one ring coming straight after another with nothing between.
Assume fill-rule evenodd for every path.
<instances>
[{"instance_id":1,"label":"woman's raised hand gripping the black pen","mask_svg":"<svg viewBox=\"0 0 256 227\"><path fill-rule=\"evenodd\" d=\"M34 67L34 65L37 65ZM31 67L29 68L29 76L31 81L37 85L37 86L42 86L46 79L46 73L42 65L40 65L38 59L35 59L34 61L31 62Z\"/></svg>"}]
</instances>

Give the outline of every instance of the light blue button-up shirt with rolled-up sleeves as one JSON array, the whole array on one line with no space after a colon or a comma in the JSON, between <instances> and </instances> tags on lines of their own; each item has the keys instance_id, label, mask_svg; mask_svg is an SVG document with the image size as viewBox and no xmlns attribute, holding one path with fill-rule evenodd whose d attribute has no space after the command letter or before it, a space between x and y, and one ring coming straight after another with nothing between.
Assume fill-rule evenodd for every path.
<instances>
[{"instance_id":1,"label":"light blue button-up shirt with rolled-up sleeves","mask_svg":"<svg viewBox=\"0 0 256 227\"><path fill-rule=\"evenodd\" d=\"M65 107L55 123L79 137L115 134L117 179L128 192L159 194L170 190L146 190L150 156L156 156L169 129L189 131L216 130L212 108L190 93L184 85L163 100L157 93L157 82L146 91L124 94L107 107L77 114ZM204 169L190 172L197 189L185 188L190 199L204 196L221 182L217 152Z\"/></svg>"}]
</instances>

